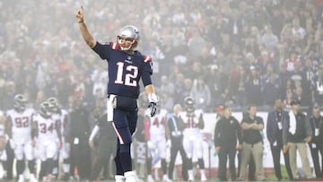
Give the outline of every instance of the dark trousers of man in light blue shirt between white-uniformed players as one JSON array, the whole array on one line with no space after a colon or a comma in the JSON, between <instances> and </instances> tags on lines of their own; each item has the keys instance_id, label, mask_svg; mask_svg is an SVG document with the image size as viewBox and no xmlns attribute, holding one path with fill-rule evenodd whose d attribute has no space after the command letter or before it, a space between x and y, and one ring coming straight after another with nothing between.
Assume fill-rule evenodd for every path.
<instances>
[{"instance_id":1,"label":"dark trousers of man in light blue shirt between white-uniformed players","mask_svg":"<svg viewBox=\"0 0 323 182\"><path fill-rule=\"evenodd\" d=\"M176 156L180 153L182 164L182 176L184 179L188 178L188 170L186 169L187 156L183 148L183 143L181 138L172 138L170 147L170 166L169 166L169 178L172 179L172 172L174 170Z\"/></svg>"}]
</instances>

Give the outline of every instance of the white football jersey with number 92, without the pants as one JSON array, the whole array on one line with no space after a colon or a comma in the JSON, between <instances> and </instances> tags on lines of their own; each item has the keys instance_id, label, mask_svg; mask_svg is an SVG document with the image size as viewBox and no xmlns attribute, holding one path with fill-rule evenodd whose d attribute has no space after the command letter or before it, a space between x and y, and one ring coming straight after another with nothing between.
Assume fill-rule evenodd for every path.
<instances>
[{"instance_id":1,"label":"white football jersey with number 92, without the pants","mask_svg":"<svg viewBox=\"0 0 323 182\"><path fill-rule=\"evenodd\" d=\"M12 119L12 137L14 143L27 143L31 141L31 123L35 114L33 108L26 108L23 112L10 109L7 116Z\"/></svg>"}]
</instances>

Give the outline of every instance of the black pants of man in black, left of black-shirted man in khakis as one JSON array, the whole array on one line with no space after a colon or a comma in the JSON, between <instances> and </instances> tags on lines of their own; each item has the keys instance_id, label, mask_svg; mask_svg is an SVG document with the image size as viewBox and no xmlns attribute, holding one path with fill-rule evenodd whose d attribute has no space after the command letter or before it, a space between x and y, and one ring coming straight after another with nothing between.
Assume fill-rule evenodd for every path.
<instances>
[{"instance_id":1,"label":"black pants of man in black, left of black-shirted man in khakis","mask_svg":"<svg viewBox=\"0 0 323 182\"><path fill-rule=\"evenodd\" d=\"M227 160L229 157L229 169L230 169L230 174L231 174L231 180L236 180L236 168L234 164L235 160L235 155L236 155L236 149L235 146L222 146L220 151L219 151L219 171L218 171L218 178L222 181L228 180L226 177L227 174Z\"/></svg>"}]
</instances>

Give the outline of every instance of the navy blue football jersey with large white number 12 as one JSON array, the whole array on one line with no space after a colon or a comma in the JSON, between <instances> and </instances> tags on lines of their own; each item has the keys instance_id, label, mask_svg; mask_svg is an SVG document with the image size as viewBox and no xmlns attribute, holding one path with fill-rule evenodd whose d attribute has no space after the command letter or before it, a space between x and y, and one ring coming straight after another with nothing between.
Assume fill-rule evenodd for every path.
<instances>
[{"instance_id":1,"label":"navy blue football jersey with large white number 12","mask_svg":"<svg viewBox=\"0 0 323 182\"><path fill-rule=\"evenodd\" d=\"M135 51L134 55L129 55L113 42L106 44L97 42L92 49L101 59L108 62L108 94L137 99L140 92L140 78L144 86L152 84L153 69L150 56L144 56L139 51Z\"/></svg>"}]
</instances>

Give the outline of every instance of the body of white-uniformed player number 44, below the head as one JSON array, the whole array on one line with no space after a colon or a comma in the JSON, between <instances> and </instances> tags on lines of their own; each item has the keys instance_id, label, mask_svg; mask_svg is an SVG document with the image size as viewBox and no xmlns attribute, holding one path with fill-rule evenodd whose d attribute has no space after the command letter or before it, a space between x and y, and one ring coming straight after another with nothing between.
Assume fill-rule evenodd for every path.
<instances>
[{"instance_id":1,"label":"body of white-uniformed player number 44, below the head","mask_svg":"<svg viewBox=\"0 0 323 182\"><path fill-rule=\"evenodd\" d=\"M147 141L147 146L149 149L149 155L147 158L147 181L153 182L153 177L151 175L152 170L152 157L153 153L158 153L162 162L162 181L169 182L170 178L167 175L167 163L166 163L166 109L158 109L158 114L154 117L147 116L146 119L150 120L149 126L149 138Z\"/></svg>"}]
</instances>

